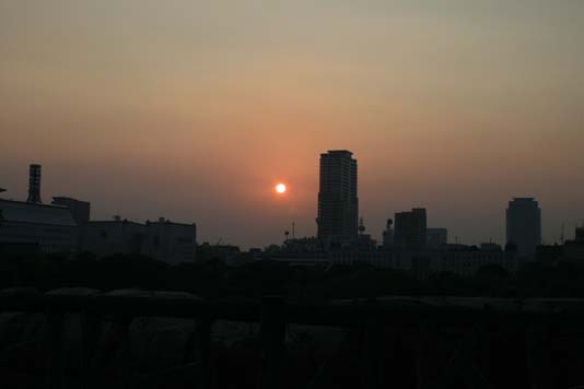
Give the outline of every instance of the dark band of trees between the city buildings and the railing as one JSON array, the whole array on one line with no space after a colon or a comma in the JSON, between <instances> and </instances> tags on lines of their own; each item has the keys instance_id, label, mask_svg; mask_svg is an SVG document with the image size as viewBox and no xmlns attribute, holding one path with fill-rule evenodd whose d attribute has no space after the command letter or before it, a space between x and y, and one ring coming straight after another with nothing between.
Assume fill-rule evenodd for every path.
<instances>
[{"instance_id":1,"label":"dark band of trees between the city buildings and the railing","mask_svg":"<svg viewBox=\"0 0 584 389\"><path fill-rule=\"evenodd\" d=\"M511 275L498 266L486 266L474 278L443 272L421 280L410 272L364 263L294 267L262 260L226 267L210 260L168 266L143 256L97 260L90 254L72 259L59 255L0 258L0 287L28 286L184 291L209 298L279 294L309 300L384 295L584 298L584 267L529 263Z\"/></svg>"}]
</instances>

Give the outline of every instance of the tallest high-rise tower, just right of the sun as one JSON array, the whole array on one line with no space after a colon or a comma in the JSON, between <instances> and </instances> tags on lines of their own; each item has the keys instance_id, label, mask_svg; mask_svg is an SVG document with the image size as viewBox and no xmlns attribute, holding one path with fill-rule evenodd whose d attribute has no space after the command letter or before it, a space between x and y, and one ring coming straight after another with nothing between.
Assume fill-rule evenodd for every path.
<instances>
[{"instance_id":1,"label":"tallest high-rise tower, just right of the sun","mask_svg":"<svg viewBox=\"0 0 584 389\"><path fill-rule=\"evenodd\" d=\"M357 238L359 200L357 197L357 160L347 150L320 154L318 191L318 238L325 247L350 243Z\"/></svg>"}]
</instances>

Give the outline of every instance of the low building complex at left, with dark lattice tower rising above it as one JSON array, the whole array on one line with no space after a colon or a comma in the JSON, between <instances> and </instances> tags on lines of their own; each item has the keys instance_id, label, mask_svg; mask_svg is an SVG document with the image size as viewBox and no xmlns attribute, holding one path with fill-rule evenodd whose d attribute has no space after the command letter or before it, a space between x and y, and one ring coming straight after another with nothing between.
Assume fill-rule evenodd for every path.
<instances>
[{"instance_id":1,"label":"low building complex at left, with dark lattice tower rising above it","mask_svg":"<svg viewBox=\"0 0 584 389\"><path fill-rule=\"evenodd\" d=\"M194 261L197 252L195 224L160 219L145 224L115 217L92 221L91 203L70 197L40 198L40 165L30 166L26 201L0 199L0 251L70 255L89 251L97 258L144 255L167 263Z\"/></svg>"}]
</instances>

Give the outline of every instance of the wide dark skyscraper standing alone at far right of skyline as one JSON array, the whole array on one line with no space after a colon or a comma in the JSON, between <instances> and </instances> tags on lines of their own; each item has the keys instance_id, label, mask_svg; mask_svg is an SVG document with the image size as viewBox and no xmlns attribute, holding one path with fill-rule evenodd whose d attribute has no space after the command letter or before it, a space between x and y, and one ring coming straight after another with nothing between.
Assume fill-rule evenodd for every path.
<instances>
[{"instance_id":1,"label":"wide dark skyscraper standing alone at far right of skyline","mask_svg":"<svg viewBox=\"0 0 584 389\"><path fill-rule=\"evenodd\" d=\"M507 243L517 246L522 257L534 258L541 244L541 209L533 198L514 198L506 212Z\"/></svg>"}]
</instances>

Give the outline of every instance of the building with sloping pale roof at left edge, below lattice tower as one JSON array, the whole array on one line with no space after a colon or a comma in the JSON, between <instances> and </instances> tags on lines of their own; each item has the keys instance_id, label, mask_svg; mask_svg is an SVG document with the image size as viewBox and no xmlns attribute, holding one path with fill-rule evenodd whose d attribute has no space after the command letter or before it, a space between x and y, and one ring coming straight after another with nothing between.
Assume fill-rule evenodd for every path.
<instances>
[{"instance_id":1,"label":"building with sloping pale roof at left edge, below lattice tower","mask_svg":"<svg viewBox=\"0 0 584 389\"><path fill-rule=\"evenodd\" d=\"M78 225L65 207L0 199L0 244L71 252L77 249Z\"/></svg>"}]
</instances>

